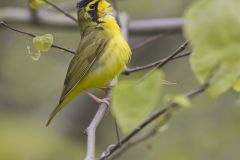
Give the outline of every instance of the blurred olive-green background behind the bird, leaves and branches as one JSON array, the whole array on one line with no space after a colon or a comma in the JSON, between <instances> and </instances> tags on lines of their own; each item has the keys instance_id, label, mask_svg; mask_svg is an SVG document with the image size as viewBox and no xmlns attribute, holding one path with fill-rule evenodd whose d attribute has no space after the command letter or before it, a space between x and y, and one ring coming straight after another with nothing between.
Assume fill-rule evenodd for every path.
<instances>
[{"instance_id":1,"label":"blurred olive-green background behind the bird, leaves and branches","mask_svg":"<svg viewBox=\"0 0 240 160\"><path fill-rule=\"evenodd\" d=\"M55 2L60 5L66 3L63 0ZM67 1L69 4L75 2L76 0ZM182 17L192 2L121 0L118 5L119 10L126 12L131 21ZM28 1L0 0L0 17L2 8L6 7L28 9ZM72 8L74 13L74 7ZM5 22L8 23L7 20ZM25 23L9 24L37 35L51 33L56 44L73 49L77 48L80 39L76 29L56 29ZM134 47L149 36L151 35L131 34L129 43ZM181 32L163 36L136 50L129 67L164 58L183 42ZM46 128L45 122L58 102L66 70L73 56L50 49L35 62L27 54L28 45L31 46L31 38L0 28L0 159L84 159L86 136L83 132L94 116L97 104L82 94ZM185 93L198 86L187 57L169 63L163 70L167 80L177 83L165 86L166 93ZM121 79L136 78L141 74L121 76ZM218 99L211 99L206 94L197 97L192 108L183 109L172 118L167 131L129 149L118 159L238 159L240 109L235 104L237 98L239 97L234 92L228 92ZM120 135L124 136L122 133ZM109 112L97 131L97 153L100 154L109 144L116 143L116 137L114 119Z\"/></svg>"}]
</instances>

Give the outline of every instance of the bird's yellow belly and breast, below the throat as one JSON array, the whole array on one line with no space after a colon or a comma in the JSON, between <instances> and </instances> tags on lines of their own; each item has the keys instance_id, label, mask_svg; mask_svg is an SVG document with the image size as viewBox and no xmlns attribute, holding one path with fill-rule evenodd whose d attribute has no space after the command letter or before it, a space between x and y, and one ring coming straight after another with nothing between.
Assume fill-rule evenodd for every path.
<instances>
[{"instance_id":1,"label":"bird's yellow belly and breast, below the throat","mask_svg":"<svg viewBox=\"0 0 240 160\"><path fill-rule=\"evenodd\" d=\"M130 58L130 48L122 36L113 38L106 46L92 70L79 82L77 92L88 88L98 88L107 85L126 66Z\"/></svg>"}]
</instances>

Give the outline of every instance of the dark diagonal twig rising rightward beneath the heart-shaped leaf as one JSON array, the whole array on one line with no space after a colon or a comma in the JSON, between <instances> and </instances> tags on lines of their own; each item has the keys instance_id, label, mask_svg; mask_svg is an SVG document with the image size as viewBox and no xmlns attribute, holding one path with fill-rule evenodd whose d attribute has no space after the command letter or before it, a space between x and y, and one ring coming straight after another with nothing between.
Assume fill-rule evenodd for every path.
<instances>
[{"instance_id":1,"label":"dark diagonal twig rising rightward beneath the heart-shaped leaf","mask_svg":"<svg viewBox=\"0 0 240 160\"><path fill-rule=\"evenodd\" d=\"M204 92L208 85L203 85L190 91L186 94L186 97L192 99L196 95ZM146 126L156 120L159 116L166 114L171 109L177 109L180 106L176 103L170 103L168 107L159 110L158 112L154 113L152 116L148 117L144 122L142 122L139 126L137 126L131 133L129 133L126 137L124 137L118 144L114 145L111 148L108 148L105 152L103 152L102 156L99 160L107 160L112 154L114 154L118 149L120 149L124 144L126 144L131 138L133 138L136 134L138 134L141 130L143 130Z\"/></svg>"}]
</instances>

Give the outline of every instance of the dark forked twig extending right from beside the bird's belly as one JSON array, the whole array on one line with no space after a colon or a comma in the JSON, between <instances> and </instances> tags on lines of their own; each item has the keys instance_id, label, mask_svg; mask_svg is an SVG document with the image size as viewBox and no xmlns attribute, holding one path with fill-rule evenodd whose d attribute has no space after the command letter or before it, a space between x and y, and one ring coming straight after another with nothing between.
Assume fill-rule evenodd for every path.
<instances>
[{"instance_id":1,"label":"dark forked twig extending right from beside the bird's belly","mask_svg":"<svg viewBox=\"0 0 240 160\"><path fill-rule=\"evenodd\" d=\"M179 55L186 48L186 46L187 46L187 42L185 42L175 52L173 52L172 54L170 54L168 57L166 57L164 59L158 60L156 62L147 64L147 65L144 65L144 66L140 66L140 67L126 68L122 72L122 74L123 75L129 75L131 73L138 72L138 71L143 71L143 70L146 70L146 69L149 69L149 68L153 68L153 67L161 68L161 67L163 67L164 65L166 65L170 61L173 61L173 60L176 60L176 59L179 59L179 58L182 58L182 57L189 56L191 54L190 51L185 52L185 53Z\"/></svg>"}]
</instances>

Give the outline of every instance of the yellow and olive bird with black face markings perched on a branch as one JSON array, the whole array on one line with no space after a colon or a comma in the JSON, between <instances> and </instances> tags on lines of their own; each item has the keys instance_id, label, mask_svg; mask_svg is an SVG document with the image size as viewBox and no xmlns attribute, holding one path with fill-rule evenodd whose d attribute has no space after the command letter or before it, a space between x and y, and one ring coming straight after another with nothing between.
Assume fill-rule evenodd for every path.
<instances>
[{"instance_id":1,"label":"yellow and olive bird with black face markings perched on a branch","mask_svg":"<svg viewBox=\"0 0 240 160\"><path fill-rule=\"evenodd\" d=\"M46 126L76 96L109 84L124 70L132 54L109 2L81 0L76 8L81 39L68 67L59 103Z\"/></svg>"}]
</instances>

